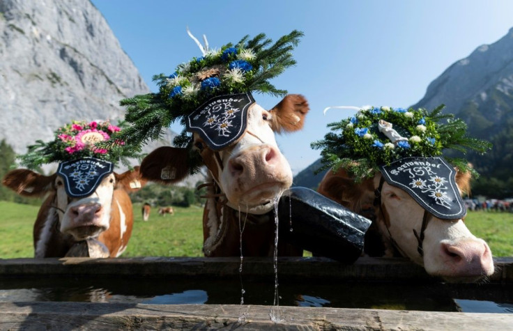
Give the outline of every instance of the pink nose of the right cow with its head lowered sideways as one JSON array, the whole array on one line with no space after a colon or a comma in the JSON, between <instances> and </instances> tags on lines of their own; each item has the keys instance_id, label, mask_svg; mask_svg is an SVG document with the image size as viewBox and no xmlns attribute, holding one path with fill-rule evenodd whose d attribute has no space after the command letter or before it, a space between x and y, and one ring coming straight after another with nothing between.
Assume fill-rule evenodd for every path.
<instances>
[{"instance_id":1,"label":"pink nose of the right cow with its head lowered sideways","mask_svg":"<svg viewBox=\"0 0 513 331\"><path fill-rule=\"evenodd\" d=\"M481 276L493 272L493 261L487 244L475 240L441 244L441 254L454 271L454 276Z\"/></svg>"}]
</instances>

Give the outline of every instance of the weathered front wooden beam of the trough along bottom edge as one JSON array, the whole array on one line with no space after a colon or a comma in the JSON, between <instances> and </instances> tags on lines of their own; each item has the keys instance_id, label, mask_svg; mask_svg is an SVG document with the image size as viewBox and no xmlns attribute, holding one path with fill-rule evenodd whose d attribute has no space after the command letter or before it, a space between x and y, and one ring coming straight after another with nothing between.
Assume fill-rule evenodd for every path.
<instances>
[{"instance_id":1,"label":"weathered front wooden beam of the trough along bottom edge","mask_svg":"<svg viewBox=\"0 0 513 331\"><path fill-rule=\"evenodd\" d=\"M270 309L281 321L271 321ZM0 302L1 330L511 330L513 314L250 305Z\"/></svg>"}]
</instances>

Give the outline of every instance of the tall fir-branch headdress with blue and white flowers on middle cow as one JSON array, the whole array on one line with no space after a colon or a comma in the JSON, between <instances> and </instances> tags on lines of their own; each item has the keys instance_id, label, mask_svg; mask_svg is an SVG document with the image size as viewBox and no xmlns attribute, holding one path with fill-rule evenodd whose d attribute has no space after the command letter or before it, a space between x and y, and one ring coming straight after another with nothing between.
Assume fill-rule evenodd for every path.
<instances>
[{"instance_id":1,"label":"tall fir-branch headdress with blue and white flowers on middle cow","mask_svg":"<svg viewBox=\"0 0 513 331\"><path fill-rule=\"evenodd\" d=\"M187 147L191 142L187 116L205 107L213 98L245 93L245 100L252 102L252 91L285 95L286 90L275 88L269 80L296 64L291 51L303 33L292 31L273 45L272 40L260 33L252 39L245 36L238 43L229 43L220 49L203 47L190 36L196 40L203 56L182 63L171 75L155 75L153 80L159 86L158 93L121 100L121 105L127 107L125 120L131 126L114 137L126 144L141 146L148 139L159 139L165 128L180 121L184 130L173 143ZM199 162L194 163L192 172L199 166Z\"/></svg>"}]
</instances>

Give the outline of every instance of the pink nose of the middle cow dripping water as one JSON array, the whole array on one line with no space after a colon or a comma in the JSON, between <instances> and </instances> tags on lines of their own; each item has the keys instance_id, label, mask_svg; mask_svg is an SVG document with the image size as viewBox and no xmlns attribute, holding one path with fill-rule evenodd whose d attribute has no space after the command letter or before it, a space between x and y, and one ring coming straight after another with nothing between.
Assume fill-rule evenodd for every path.
<instances>
[{"instance_id":1,"label":"pink nose of the middle cow dripping water","mask_svg":"<svg viewBox=\"0 0 513 331\"><path fill-rule=\"evenodd\" d=\"M254 176L259 169L272 166L279 162L278 153L273 146L258 146L232 157L228 162L231 176Z\"/></svg>"}]
</instances>

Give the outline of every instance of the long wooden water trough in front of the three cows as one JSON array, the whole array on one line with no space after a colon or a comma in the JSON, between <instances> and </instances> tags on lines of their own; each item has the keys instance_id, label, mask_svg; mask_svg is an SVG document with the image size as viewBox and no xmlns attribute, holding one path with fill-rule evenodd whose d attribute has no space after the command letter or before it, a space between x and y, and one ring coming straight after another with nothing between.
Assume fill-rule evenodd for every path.
<instances>
[{"instance_id":1,"label":"long wooden water trough in front of the three cows","mask_svg":"<svg viewBox=\"0 0 513 331\"><path fill-rule=\"evenodd\" d=\"M445 284L405 259L280 258L279 306L271 260L245 258L242 275L238 258L0 260L0 329L513 325L513 258L480 284Z\"/></svg>"}]
</instances>

